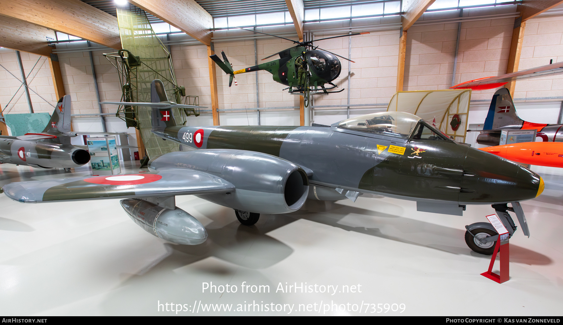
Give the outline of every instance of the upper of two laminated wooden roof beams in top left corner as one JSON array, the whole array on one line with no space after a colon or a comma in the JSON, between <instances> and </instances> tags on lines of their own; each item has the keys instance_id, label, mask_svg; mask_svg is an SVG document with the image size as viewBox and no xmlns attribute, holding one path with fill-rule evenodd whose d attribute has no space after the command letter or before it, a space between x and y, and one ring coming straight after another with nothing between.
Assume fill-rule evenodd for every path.
<instances>
[{"instance_id":1,"label":"upper of two laminated wooden roof beams in top left corner","mask_svg":"<svg viewBox=\"0 0 563 325\"><path fill-rule=\"evenodd\" d=\"M117 18L80 0L0 0L0 16L121 49Z\"/></svg>"}]
</instances>

